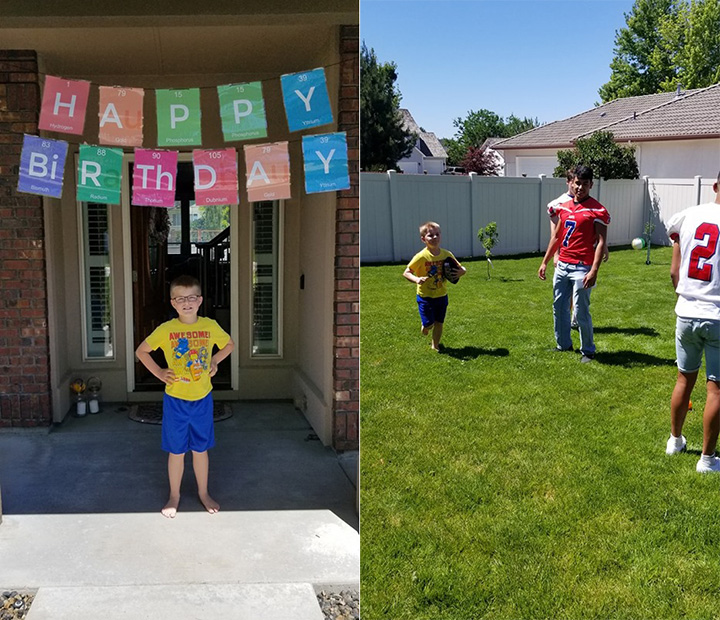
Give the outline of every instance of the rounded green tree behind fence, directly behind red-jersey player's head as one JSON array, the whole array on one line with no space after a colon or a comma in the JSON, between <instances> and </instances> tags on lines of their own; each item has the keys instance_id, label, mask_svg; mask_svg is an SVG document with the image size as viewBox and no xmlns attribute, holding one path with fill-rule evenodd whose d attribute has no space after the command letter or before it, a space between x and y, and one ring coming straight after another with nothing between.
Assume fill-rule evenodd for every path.
<instances>
[{"instance_id":1,"label":"rounded green tree behind fence, directly behind red-jersey player's head","mask_svg":"<svg viewBox=\"0 0 720 620\"><path fill-rule=\"evenodd\" d=\"M610 131L596 131L588 138L578 138L573 150L558 151L559 165L553 176L565 177L565 172L579 164L590 166L595 178L637 179L639 176L634 146L621 146Z\"/></svg>"}]
</instances>

